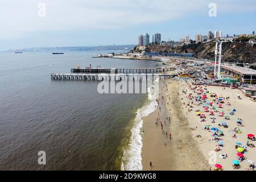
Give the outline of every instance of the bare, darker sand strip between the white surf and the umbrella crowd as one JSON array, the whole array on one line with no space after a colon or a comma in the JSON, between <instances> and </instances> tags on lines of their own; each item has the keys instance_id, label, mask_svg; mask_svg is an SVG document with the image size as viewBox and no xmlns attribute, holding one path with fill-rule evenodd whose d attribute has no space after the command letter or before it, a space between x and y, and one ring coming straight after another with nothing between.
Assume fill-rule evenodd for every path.
<instances>
[{"instance_id":1,"label":"bare, darker sand strip between the white surf and the umbrella crowd","mask_svg":"<svg viewBox=\"0 0 256 182\"><path fill-rule=\"evenodd\" d=\"M172 84L168 84L168 82L172 82ZM164 84L168 85L168 92L171 93L170 100L168 100L169 93L165 92L166 86ZM159 101L161 110L158 107L154 113L143 118L143 129L145 131L142 137L143 170L187 171L209 169L207 160L192 137L187 117L183 115L181 102L177 94L177 90L180 90L179 82L166 80L160 83L160 88L162 91L160 94L163 94L164 97L163 101ZM169 102L169 105L167 102ZM158 111L160 122L163 123L164 133L161 131L160 124L158 126L155 124ZM171 122L166 117L171 117ZM166 120L165 123L164 120ZM170 133L172 134L171 140L169 138ZM150 161L152 167L149 166Z\"/></svg>"}]
</instances>

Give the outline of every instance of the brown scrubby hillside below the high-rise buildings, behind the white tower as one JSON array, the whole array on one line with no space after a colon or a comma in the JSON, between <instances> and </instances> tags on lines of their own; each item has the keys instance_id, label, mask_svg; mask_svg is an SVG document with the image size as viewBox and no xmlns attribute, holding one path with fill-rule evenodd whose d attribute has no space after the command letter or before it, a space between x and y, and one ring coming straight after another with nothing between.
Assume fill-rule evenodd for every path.
<instances>
[{"instance_id":1,"label":"brown scrubby hillside below the high-rise buildings, behind the white tower","mask_svg":"<svg viewBox=\"0 0 256 182\"><path fill-rule=\"evenodd\" d=\"M249 38L238 38L233 42L222 43L222 60L234 63L256 63L256 45L252 46L248 42ZM170 46L152 45L140 46L140 53L145 52L170 52L170 53L195 53L196 58L213 59L216 43L198 43L191 41L191 44L172 48ZM138 52L138 46L131 52Z\"/></svg>"}]
</instances>

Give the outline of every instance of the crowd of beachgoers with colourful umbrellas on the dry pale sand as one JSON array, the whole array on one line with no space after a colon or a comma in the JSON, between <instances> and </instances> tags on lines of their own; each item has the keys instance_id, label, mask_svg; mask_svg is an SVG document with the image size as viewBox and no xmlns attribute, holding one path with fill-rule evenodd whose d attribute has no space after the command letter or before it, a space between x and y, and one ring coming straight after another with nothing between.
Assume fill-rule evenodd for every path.
<instances>
[{"instance_id":1,"label":"crowd of beachgoers with colourful umbrellas on the dry pale sand","mask_svg":"<svg viewBox=\"0 0 256 182\"><path fill-rule=\"evenodd\" d=\"M244 121L242 118L238 118L237 127L235 127L234 129L228 129L228 122L231 122L230 118L234 117L237 113L237 109L232 108L232 104L229 101L230 97L218 96L217 93L211 93L207 89L207 86L193 85L191 82L188 81L186 82L186 84L188 86L189 92L187 89L182 90L182 92L189 100L187 104L183 102L183 105L185 105L185 107L188 107L187 114L195 111L195 114L197 115L201 123L208 122L207 125L205 125L204 130L207 130L209 132L209 135L211 135L212 139L210 139L210 141L216 142L216 148L214 149L214 151L222 151L222 148L225 147L225 145L224 139L222 139L222 137L224 136L224 131L221 128L227 129L228 132L232 134L232 136L230 137L233 137L234 140L237 140L237 135L242 133L241 128L245 126L244 123L246 121ZM225 90L225 88L222 88L222 90ZM242 99L239 93L237 94L237 98L238 100ZM183 99L181 98L181 100ZM225 113L223 111L224 107L228 107L228 113ZM216 123L217 119L222 119L222 122ZM212 127L210 127L211 125ZM196 137L200 138L201 135L197 134ZM240 142L234 143L234 148L235 150L237 150L237 159L232 160L234 169L239 169L241 165L244 165L245 162L248 162L249 170L255 169L254 161L245 157L246 152L248 150L253 150L253 148L255 147L253 144L254 140L256 139L253 134L247 134L246 146ZM228 158L228 154L221 154L220 158L226 159ZM213 170L220 171L222 169L223 168L221 164L214 164ZM212 167L210 168L210 170L212 170Z\"/></svg>"}]
</instances>

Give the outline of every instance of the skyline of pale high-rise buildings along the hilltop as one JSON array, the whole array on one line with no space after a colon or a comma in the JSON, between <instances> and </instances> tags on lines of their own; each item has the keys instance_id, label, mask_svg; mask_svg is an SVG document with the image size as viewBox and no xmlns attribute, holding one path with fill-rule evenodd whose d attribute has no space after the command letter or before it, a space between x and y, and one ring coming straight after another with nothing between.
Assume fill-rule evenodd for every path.
<instances>
[{"instance_id":1,"label":"skyline of pale high-rise buildings along the hilltop","mask_svg":"<svg viewBox=\"0 0 256 182\"><path fill-rule=\"evenodd\" d=\"M187 35L184 38L181 38L179 42L175 42L174 40L163 41L161 39L161 34L156 33L152 35L152 40L150 42L150 35L146 33L144 35L138 36L138 46L160 45L160 46L178 47L178 46L190 44L192 42L207 43L216 39L222 40L224 42L228 42L228 41L233 42L233 40L235 38L238 38L239 36L254 36L254 35L255 35L255 32L253 31L252 34L242 34L242 35L234 34L233 36L229 36L229 35L222 36L222 31L216 30L214 32L209 31L208 35L197 34L195 35L195 40L190 39L189 35ZM251 40L251 43L255 44L255 39Z\"/></svg>"}]
</instances>

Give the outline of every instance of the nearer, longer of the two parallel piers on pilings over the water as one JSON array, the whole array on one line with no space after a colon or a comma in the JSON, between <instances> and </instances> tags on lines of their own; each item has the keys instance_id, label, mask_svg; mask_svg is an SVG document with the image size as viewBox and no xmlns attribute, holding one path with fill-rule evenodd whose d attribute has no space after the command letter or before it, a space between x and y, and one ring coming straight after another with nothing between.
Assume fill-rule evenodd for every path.
<instances>
[{"instance_id":1,"label":"nearer, longer of the two parallel piers on pilings over the water","mask_svg":"<svg viewBox=\"0 0 256 182\"><path fill-rule=\"evenodd\" d=\"M52 73L51 80L76 80L76 81L85 81L85 80L94 80L94 81L102 81L102 80L155 80L159 78L159 80L163 80L166 78L173 78L177 75L159 75L159 74L85 74L85 73Z\"/></svg>"}]
</instances>

